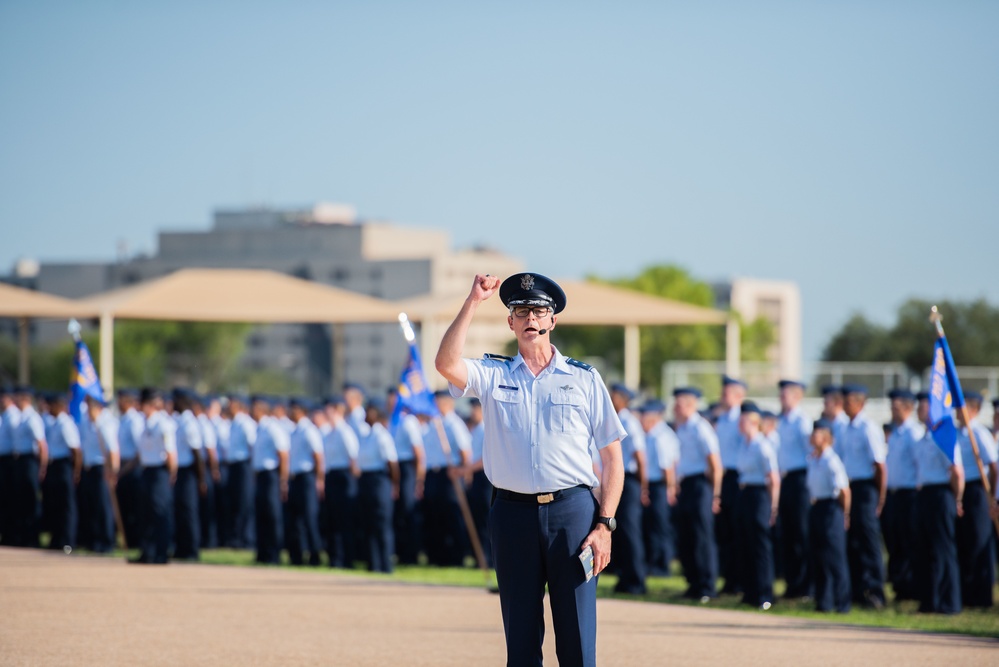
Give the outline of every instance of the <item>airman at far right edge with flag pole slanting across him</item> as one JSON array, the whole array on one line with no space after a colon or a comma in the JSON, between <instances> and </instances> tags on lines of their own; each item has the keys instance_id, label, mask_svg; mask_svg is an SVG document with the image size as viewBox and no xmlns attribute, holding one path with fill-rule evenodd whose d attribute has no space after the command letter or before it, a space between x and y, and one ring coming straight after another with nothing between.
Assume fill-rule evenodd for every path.
<instances>
[{"instance_id":1,"label":"airman at far right edge with flag pole slanting across him","mask_svg":"<svg viewBox=\"0 0 999 667\"><path fill-rule=\"evenodd\" d=\"M961 427L958 433L958 445L961 447L961 458L964 461L964 500L963 513L957 519L957 559L961 566L961 601L965 607L991 607L993 602L992 588L995 584L995 557L992 541L992 523L989 511L995 500L985 492L982 483L982 473L971 446L969 428L974 430L975 442L978 445L978 455L982 459L982 467L990 484L990 489L996 488L999 479L999 464L997 464L996 442L992 439L989 429L977 421L982 409L982 395L977 391L964 394L964 403L968 411L969 423L964 423L962 412L958 412L958 423Z\"/></svg>"}]
</instances>

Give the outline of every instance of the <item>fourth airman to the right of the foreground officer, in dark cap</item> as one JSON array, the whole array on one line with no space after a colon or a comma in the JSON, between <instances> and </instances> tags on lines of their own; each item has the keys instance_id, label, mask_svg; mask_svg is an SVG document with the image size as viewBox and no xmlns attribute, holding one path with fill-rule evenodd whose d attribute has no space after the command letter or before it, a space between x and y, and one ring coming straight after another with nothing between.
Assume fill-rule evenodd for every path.
<instances>
[{"instance_id":1,"label":"fourth airman to the right of the foreground officer, in dark cap","mask_svg":"<svg viewBox=\"0 0 999 667\"><path fill-rule=\"evenodd\" d=\"M742 591L739 580L742 553L739 543L739 457L745 448L739 431L740 406L746 398L746 384L728 375L722 376L722 395L718 403L718 452L722 468L721 511L715 517L715 537L718 539L718 565L725 580L722 593L735 595Z\"/></svg>"}]
</instances>

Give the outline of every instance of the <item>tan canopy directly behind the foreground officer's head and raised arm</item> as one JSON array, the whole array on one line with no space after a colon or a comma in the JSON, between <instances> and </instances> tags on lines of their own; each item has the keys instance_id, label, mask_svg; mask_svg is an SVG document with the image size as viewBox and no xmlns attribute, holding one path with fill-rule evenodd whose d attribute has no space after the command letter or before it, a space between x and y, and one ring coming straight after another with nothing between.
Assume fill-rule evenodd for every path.
<instances>
[{"instance_id":1,"label":"tan canopy directly behind the foreground officer's head and raised arm","mask_svg":"<svg viewBox=\"0 0 999 667\"><path fill-rule=\"evenodd\" d=\"M561 324L624 327L624 380L631 387L639 384L641 366L641 326L716 324L726 327L726 369L739 373L739 324L728 313L702 308L681 301L664 299L631 289L580 280L558 281L565 290L568 304L559 315ZM446 297L416 297L397 302L409 318L423 324L422 356L426 367L433 367L436 346L443 334L438 329L454 319L465 301L466 293ZM507 310L498 298L483 304L476 322L505 322ZM430 364L428 366L428 364Z\"/></svg>"}]
</instances>

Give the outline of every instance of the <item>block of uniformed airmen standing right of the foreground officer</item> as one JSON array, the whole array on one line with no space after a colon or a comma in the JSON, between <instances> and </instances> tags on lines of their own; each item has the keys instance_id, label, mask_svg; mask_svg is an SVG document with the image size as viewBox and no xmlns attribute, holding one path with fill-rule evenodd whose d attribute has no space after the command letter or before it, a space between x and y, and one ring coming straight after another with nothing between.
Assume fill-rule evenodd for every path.
<instances>
[{"instance_id":1,"label":"block of uniformed airmen standing right of the foreground officer","mask_svg":"<svg viewBox=\"0 0 999 667\"><path fill-rule=\"evenodd\" d=\"M721 578L720 592L769 608L782 575L785 597L814 598L819 609L880 608L884 544L895 599L917 599L928 612L990 606L995 500L985 494L968 426L951 461L924 425L925 395L893 390L892 423L882 427L867 417L863 386L823 388L814 423L800 409L802 383L784 380L779 390L775 415L745 406L745 385L725 377L721 400L702 413L701 392L682 387L667 423L665 404L632 412L635 394L612 385L628 431L616 590L644 593L646 576L668 574L675 556L686 596L703 602L717 596ZM997 447L975 421L981 400L969 393L967 405L994 489Z\"/></svg>"}]
</instances>

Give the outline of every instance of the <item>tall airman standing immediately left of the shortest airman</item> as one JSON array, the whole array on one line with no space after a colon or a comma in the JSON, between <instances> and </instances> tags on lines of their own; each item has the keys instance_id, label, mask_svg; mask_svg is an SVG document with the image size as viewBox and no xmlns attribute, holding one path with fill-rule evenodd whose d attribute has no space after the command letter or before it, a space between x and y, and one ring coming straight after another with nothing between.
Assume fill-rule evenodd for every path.
<instances>
[{"instance_id":1,"label":"tall airman standing immediately left of the shortest airman","mask_svg":"<svg viewBox=\"0 0 999 667\"><path fill-rule=\"evenodd\" d=\"M808 571L808 455L812 451L810 438L812 423L805 418L799 405L805 385L797 380L781 380L780 420L777 436L780 448L777 462L780 465L780 525L783 547L784 581L788 599L810 597L812 578Z\"/></svg>"}]
</instances>

